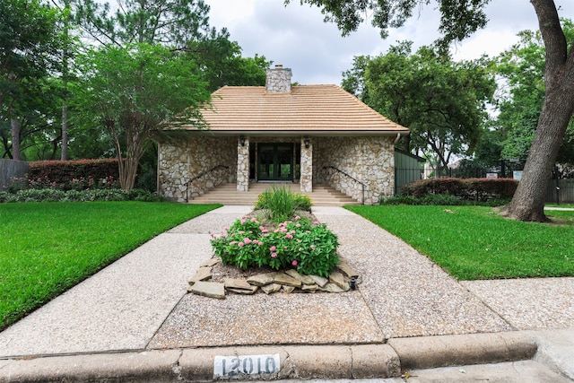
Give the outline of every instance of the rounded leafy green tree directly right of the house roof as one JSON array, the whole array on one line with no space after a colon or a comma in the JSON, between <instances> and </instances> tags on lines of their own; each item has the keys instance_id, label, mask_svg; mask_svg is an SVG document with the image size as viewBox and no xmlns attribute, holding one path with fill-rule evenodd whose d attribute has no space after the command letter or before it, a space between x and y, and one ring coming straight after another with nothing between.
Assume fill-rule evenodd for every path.
<instances>
[{"instance_id":1,"label":"rounded leafy green tree directly right of the house roof","mask_svg":"<svg viewBox=\"0 0 574 383\"><path fill-rule=\"evenodd\" d=\"M433 47L411 49L412 42L403 42L385 55L355 57L343 83L371 108L409 126L404 150L434 158L442 174L452 155L472 152L478 143L494 76L483 60L455 63Z\"/></svg>"}]
</instances>

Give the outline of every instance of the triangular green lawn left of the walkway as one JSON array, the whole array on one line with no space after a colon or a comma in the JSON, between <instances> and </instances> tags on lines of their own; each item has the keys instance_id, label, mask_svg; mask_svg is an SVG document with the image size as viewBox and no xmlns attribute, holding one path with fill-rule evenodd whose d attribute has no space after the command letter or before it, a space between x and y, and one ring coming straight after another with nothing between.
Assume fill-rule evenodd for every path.
<instances>
[{"instance_id":1,"label":"triangular green lawn left of the walkway","mask_svg":"<svg viewBox=\"0 0 574 383\"><path fill-rule=\"evenodd\" d=\"M162 231L217 206L0 204L0 330Z\"/></svg>"}]
</instances>

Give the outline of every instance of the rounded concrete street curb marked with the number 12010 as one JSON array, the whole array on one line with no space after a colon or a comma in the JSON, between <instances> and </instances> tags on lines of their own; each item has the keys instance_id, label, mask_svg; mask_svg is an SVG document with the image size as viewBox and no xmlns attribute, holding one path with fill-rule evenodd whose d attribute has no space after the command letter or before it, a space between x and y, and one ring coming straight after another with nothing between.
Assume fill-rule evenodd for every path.
<instances>
[{"instance_id":1,"label":"rounded concrete street curb marked with the number 12010","mask_svg":"<svg viewBox=\"0 0 574 383\"><path fill-rule=\"evenodd\" d=\"M0 360L0 382L383 379L400 377L404 370L532 359L536 349L533 338L525 332L507 332L394 338L388 344L242 346L48 356ZM213 375L216 356L229 356L238 364L244 361L244 366L247 362L241 358L253 356L248 358L252 368L252 359L270 355L280 361L272 373Z\"/></svg>"}]
</instances>

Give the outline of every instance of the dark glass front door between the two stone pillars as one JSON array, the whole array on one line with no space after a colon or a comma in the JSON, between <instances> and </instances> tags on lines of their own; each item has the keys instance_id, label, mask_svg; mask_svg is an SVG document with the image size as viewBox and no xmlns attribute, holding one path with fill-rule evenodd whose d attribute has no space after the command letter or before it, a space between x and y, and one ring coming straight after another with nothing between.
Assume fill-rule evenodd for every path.
<instances>
[{"instance_id":1,"label":"dark glass front door between the two stone pillars","mask_svg":"<svg viewBox=\"0 0 574 383\"><path fill-rule=\"evenodd\" d=\"M291 181L293 179L293 144L257 144L257 179Z\"/></svg>"}]
</instances>

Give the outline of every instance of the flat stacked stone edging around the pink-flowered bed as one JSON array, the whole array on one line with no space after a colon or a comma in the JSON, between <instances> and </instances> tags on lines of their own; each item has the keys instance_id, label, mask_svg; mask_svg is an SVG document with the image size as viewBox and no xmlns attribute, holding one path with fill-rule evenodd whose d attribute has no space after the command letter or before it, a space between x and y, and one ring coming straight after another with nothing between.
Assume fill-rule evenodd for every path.
<instances>
[{"instance_id":1,"label":"flat stacked stone edging around the pink-flowered bed","mask_svg":"<svg viewBox=\"0 0 574 383\"><path fill-rule=\"evenodd\" d=\"M265 292L349 292L356 289L360 283L360 275L346 261L339 257L335 265L337 271L329 274L328 278L318 275L301 275L295 269L285 271L255 274L248 278L225 278L223 282L210 282L213 277L213 266L221 263L221 259L211 258L201 265L196 274L188 281L187 292L205 297L225 299L225 294L255 294Z\"/></svg>"}]
</instances>

